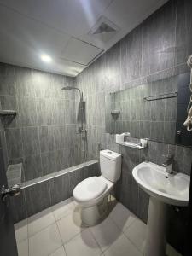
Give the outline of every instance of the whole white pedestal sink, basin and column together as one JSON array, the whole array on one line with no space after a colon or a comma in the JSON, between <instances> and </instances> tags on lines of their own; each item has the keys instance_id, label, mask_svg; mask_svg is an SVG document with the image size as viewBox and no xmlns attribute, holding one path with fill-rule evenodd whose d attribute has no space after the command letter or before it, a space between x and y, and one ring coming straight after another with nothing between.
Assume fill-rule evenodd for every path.
<instances>
[{"instance_id":1,"label":"whole white pedestal sink, basin and column together","mask_svg":"<svg viewBox=\"0 0 192 256\"><path fill-rule=\"evenodd\" d=\"M132 175L138 185L150 195L144 255L165 256L167 205L188 205L190 177L183 173L167 174L165 167L151 162L136 166Z\"/></svg>"}]
</instances>

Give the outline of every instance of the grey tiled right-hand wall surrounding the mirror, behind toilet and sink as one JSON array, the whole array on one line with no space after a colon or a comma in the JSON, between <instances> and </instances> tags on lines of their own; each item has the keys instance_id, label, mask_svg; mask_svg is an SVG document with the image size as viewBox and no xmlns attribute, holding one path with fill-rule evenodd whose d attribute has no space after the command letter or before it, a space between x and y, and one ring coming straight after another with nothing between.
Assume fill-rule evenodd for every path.
<instances>
[{"instance_id":1,"label":"grey tiled right-hand wall surrounding the mirror, behind toilet and sink","mask_svg":"<svg viewBox=\"0 0 192 256\"><path fill-rule=\"evenodd\" d=\"M186 61L192 54L191 9L191 0L169 1L77 77L86 101L89 158L95 158L97 142L102 148L123 154L122 177L116 195L145 221L148 195L133 180L132 168L146 158L161 163L161 155L170 151L175 154L174 168L189 174L192 152L189 148L155 142L143 151L114 144L113 135L105 132L105 96L108 92L189 72ZM175 221L172 227L176 230L172 230L169 240L175 237L174 241L179 242L172 243L181 251L184 218L177 212L172 214L172 222Z\"/></svg>"}]
</instances>

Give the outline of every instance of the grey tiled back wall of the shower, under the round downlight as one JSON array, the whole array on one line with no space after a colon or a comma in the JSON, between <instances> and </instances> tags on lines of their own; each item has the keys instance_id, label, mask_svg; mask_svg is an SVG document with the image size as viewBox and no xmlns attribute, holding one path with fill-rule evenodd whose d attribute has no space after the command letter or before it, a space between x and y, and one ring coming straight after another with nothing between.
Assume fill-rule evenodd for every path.
<instances>
[{"instance_id":1,"label":"grey tiled back wall of the shower, under the round downlight","mask_svg":"<svg viewBox=\"0 0 192 256\"><path fill-rule=\"evenodd\" d=\"M16 117L3 118L9 163L23 162L23 181L80 163L74 79L0 64L0 102ZM6 153L6 152L5 152Z\"/></svg>"}]
</instances>

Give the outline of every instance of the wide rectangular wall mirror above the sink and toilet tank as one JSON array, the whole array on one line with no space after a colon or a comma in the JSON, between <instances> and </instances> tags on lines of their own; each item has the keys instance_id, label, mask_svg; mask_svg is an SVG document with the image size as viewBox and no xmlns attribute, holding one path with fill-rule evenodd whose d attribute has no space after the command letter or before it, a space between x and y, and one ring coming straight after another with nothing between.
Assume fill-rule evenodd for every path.
<instances>
[{"instance_id":1,"label":"wide rectangular wall mirror above the sink and toilet tank","mask_svg":"<svg viewBox=\"0 0 192 256\"><path fill-rule=\"evenodd\" d=\"M105 98L106 132L184 145L182 138L192 137L183 127L189 97L189 73L110 93Z\"/></svg>"}]
</instances>

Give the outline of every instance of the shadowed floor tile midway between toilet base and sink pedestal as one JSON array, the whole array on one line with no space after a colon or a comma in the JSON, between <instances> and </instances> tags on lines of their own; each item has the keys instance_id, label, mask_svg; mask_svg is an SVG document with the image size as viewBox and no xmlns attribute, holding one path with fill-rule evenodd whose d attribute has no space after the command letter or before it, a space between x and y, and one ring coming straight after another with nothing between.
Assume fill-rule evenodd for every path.
<instances>
[{"instance_id":1,"label":"shadowed floor tile midway between toilet base and sink pedestal","mask_svg":"<svg viewBox=\"0 0 192 256\"><path fill-rule=\"evenodd\" d=\"M119 226L120 230L125 230L137 219L137 217L121 203L117 203L112 212L110 212L109 217Z\"/></svg>"}]
</instances>

